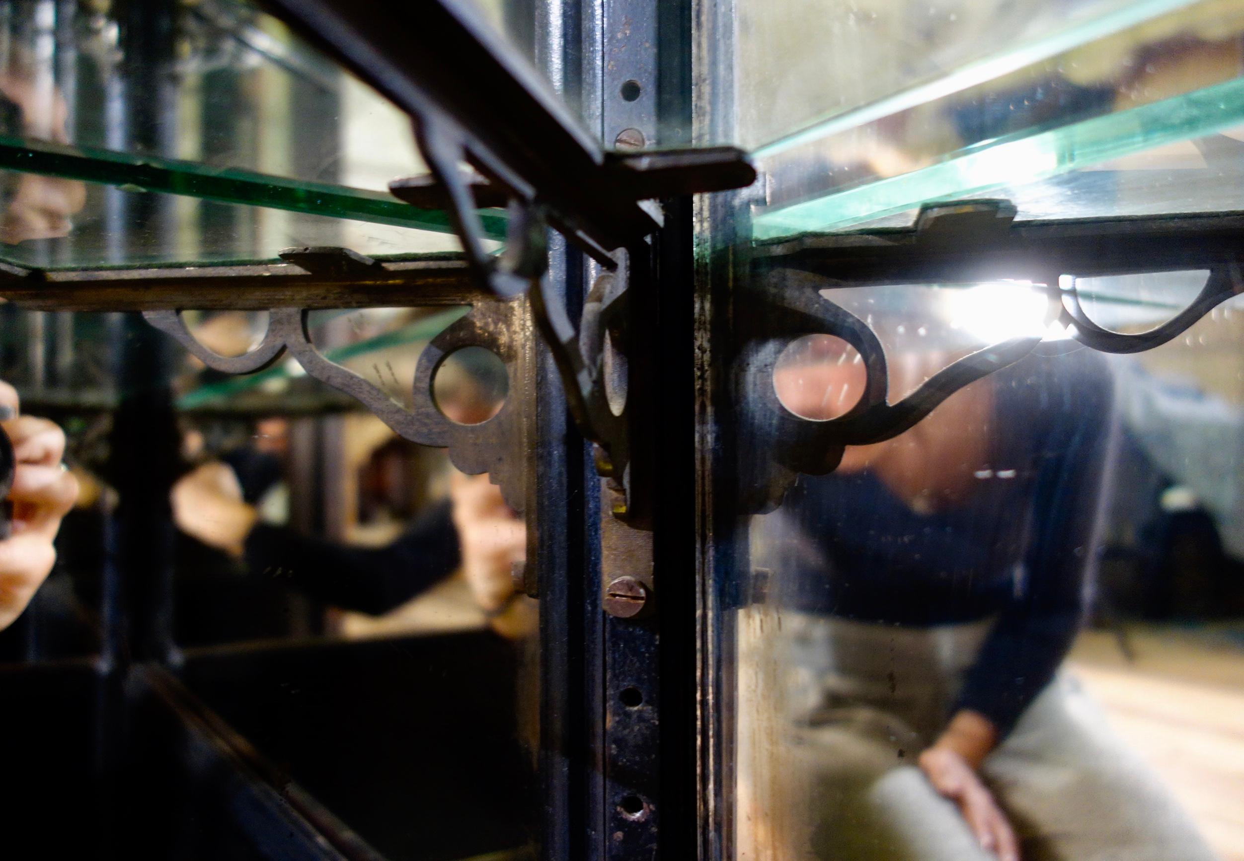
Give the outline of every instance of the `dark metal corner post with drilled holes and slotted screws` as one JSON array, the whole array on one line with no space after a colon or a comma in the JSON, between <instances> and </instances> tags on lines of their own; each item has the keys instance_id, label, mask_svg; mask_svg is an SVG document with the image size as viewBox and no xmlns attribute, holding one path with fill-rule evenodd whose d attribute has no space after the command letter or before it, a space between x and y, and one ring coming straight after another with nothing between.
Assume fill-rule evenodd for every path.
<instances>
[{"instance_id":1,"label":"dark metal corner post with drilled holes and slotted screws","mask_svg":"<svg viewBox=\"0 0 1244 861\"><path fill-rule=\"evenodd\" d=\"M603 0L597 63L606 147L685 146L690 138L690 2ZM587 46L585 46L586 49ZM587 106L585 106L587 107ZM633 617L601 615L603 859L698 856L695 296L692 205L664 200L662 229L628 250L633 316L627 409L634 463L647 463L647 528L601 514L601 587L638 581ZM644 256L643 265L636 265ZM632 474L632 480L636 477ZM643 480L639 482L643 484ZM610 498L606 486L602 494ZM641 503L642 504L642 503Z\"/></svg>"}]
</instances>

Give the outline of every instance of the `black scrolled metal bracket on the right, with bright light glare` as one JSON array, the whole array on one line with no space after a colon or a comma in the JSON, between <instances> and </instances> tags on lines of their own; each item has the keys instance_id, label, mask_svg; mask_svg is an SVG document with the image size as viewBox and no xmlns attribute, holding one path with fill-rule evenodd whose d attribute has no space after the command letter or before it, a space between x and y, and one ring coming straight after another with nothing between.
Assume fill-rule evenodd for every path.
<instances>
[{"instance_id":1,"label":"black scrolled metal bracket on the right, with bright light glare","mask_svg":"<svg viewBox=\"0 0 1244 861\"><path fill-rule=\"evenodd\" d=\"M1182 335L1220 302L1244 292L1244 215L1014 223L1005 200L926 207L913 229L809 235L758 248L758 272L736 315L735 397L743 406L741 491L751 510L781 501L799 473L825 474L847 445L891 439L950 394L1028 356L1041 338L1015 337L950 363L914 392L889 403L884 351L868 326L821 291L868 285L1029 281L1046 291L1046 322L1092 350L1135 353ZM1095 322L1077 279L1208 270L1199 294L1168 321L1143 332ZM815 421L778 398L779 355L804 335L833 335L858 351L865 389L837 418ZM756 458L755 453L765 452Z\"/></svg>"}]
</instances>

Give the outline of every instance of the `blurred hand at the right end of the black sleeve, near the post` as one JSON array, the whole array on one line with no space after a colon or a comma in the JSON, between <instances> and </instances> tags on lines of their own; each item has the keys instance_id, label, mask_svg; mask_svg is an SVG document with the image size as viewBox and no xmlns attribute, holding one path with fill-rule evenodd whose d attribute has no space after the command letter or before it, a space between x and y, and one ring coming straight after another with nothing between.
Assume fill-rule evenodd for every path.
<instances>
[{"instance_id":1,"label":"blurred hand at the right end of the black sleeve, near the post","mask_svg":"<svg viewBox=\"0 0 1244 861\"><path fill-rule=\"evenodd\" d=\"M526 556L526 526L486 474L454 472L449 499L466 585L484 612L504 610L514 595L511 569Z\"/></svg>"}]
</instances>

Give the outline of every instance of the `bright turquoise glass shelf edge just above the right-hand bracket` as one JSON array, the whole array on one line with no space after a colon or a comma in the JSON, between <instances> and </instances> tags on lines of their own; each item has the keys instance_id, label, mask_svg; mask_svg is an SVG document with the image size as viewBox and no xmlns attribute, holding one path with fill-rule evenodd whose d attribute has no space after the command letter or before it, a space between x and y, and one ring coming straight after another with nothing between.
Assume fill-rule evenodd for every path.
<instances>
[{"instance_id":1,"label":"bright turquoise glass shelf edge just above the right-hand bracket","mask_svg":"<svg viewBox=\"0 0 1244 861\"><path fill-rule=\"evenodd\" d=\"M926 203L1049 179L1244 122L1244 78L1044 132L977 144L919 170L880 179L753 218L753 239L842 230Z\"/></svg>"}]
</instances>

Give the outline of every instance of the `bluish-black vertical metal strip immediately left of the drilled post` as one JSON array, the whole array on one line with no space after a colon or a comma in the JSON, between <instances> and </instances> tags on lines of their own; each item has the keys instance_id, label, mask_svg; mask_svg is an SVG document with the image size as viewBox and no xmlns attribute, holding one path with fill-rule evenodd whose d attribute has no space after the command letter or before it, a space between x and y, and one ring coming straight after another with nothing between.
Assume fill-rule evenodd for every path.
<instances>
[{"instance_id":1,"label":"bluish-black vertical metal strip immediately left of the drilled post","mask_svg":"<svg viewBox=\"0 0 1244 861\"><path fill-rule=\"evenodd\" d=\"M595 72L583 42L591 2L536 0L534 54L567 103L596 103L585 83ZM592 40L587 39L588 44ZM586 55L598 57L598 55ZM582 255L559 234L549 238L545 277L577 319L586 294ZM527 345L520 376L534 404L526 430L529 591L540 598L540 855L547 861L601 859L600 755L601 636L597 579L596 486L591 453L571 421L561 377L525 316ZM535 582L531 584L530 580ZM534 586L534 589L532 589Z\"/></svg>"}]
</instances>

